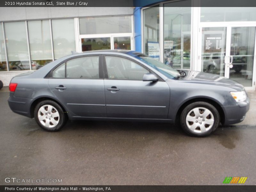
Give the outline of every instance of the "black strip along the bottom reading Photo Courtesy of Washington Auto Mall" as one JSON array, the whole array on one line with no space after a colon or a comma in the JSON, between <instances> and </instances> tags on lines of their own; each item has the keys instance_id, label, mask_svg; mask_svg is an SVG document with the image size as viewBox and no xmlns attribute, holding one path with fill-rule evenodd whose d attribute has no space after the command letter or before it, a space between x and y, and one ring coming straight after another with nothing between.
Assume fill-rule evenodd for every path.
<instances>
[{"instance_id":1,"label":"black strip along the bottom reading Photo Courtesy of Washington Auto Mall","mask_svg":"<svg viewBox=\"0 0 256 192\"><path fill-rule=\"evenodd\" d=\"M232 184L224 184L217 186L173 186L173 185L162 185L162 186L143 186L143 185L102 185L102 186L86 186L86 185L5 185L0 186L1 192L39 192L39 191L52 191L52 192L63 192L63 191L76 191L76 192L92 192L92 191L108 191L108 192L244 192L244 191L256 191L256 186L243 186L243 185L232 185Z\"/></svg>"}]
</instances>

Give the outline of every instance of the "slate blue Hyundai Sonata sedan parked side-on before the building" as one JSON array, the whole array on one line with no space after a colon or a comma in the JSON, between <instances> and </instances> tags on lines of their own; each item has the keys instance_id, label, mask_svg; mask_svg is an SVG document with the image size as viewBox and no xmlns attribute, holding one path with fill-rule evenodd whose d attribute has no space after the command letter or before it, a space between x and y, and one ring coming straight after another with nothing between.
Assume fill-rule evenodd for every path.
<instances>
[{"instance_id":1,"label":"slate blue Hyundai Sonata sedan parked side-on before the building","mask_svg":"<svg viewBox=\"0 0 256 192\"><path fill-rule=\"evenodd\" d=\"M47 131L67 119L179 121L190 135L244 120L244 87L218 75L177 71L134 51L69 55L12 78L9 106Z\"/></svg>"}]
</instances>

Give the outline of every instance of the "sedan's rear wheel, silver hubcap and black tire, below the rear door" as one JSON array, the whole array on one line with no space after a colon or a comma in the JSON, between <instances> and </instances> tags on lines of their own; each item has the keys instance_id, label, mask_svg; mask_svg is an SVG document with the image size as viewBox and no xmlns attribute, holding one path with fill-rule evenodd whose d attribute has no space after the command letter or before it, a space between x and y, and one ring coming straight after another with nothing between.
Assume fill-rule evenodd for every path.
<instances>
[{"instance_id":1,"label":"sedan's rear wheel, silver hubcap and black tire, below the rear door","mask_svg":"<svg viewBox=\"0 0 256 192\"><path fill-rule=\"evenodd\" d=\"M44 100L36 105L36 123L46 131L58 131L66 123L66 116L60 105L52 100Z\"/></svg>"}]
</instances>

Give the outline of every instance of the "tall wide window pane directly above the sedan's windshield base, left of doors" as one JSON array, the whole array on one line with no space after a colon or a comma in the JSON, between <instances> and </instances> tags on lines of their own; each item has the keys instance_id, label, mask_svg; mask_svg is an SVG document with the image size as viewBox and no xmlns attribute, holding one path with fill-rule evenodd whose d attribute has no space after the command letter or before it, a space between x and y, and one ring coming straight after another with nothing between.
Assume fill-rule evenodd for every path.
<instances>
[{"instance_id":1,"label":"tall wide window pane directly above the sedan's windshield base, left of doors","mask_svg":"<svg viewBox=\"0 0 256 192\"><path fill-rule=\"evenodd\" d=\"M189 69L191 7L172 5L164 4L164 63L173 68Z\"/></svg>"}]
</instances>

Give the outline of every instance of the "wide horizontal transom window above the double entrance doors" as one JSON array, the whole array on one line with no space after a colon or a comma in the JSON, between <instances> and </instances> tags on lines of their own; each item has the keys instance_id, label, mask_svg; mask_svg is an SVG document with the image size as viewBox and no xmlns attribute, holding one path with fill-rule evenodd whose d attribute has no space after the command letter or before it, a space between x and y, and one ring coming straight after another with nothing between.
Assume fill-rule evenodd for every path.
<instances>
[{"instance_id":1,"label":"wide horizontal transom window above the double entrance doors","mask_svg":"<svg viewBox=\"0 0 256 192\"><path fill-rule=\"evenodd\" d=\"M201 22L256 21L256 7L201 7Z\"/></svg>"}]
</instances>

